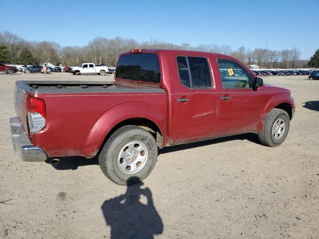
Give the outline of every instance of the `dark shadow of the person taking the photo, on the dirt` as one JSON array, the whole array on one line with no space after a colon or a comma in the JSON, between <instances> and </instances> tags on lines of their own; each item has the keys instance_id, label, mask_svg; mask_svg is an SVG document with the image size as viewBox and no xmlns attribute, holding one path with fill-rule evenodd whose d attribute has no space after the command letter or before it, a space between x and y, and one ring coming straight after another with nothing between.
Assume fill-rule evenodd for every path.
<instances>
[{"instance_id":1,"label":"dark shadow of the person taking the photo, on the dirt","mask_svg":"<svg viewBox=\"0 0 319 239\"><path fill-rule=\"evenodd\" d=\"M128 184L136 182L131 177ZM111 239L152 239L162 234L163 223L153 204L149 188L141 188L144 183L128 185L125 194L106 200L101 209L106 224L111 227ZM140 197L147 198L147 204Z\"/></svg>"}]
</instances>

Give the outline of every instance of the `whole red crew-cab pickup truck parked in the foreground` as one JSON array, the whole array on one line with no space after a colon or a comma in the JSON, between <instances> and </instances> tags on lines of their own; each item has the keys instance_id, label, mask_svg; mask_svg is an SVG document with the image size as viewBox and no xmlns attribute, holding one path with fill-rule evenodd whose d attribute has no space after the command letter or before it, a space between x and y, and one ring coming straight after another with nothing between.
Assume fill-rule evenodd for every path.
<instances>
[{"instance_id":1,"label":"whole red crew-cab pickup truck parked in the foreground","mask_svg":"<svg viewBox=\"0 0 319 239\"><path fill-rule=\"evenodd\" d=\"M230 56L157 49L121 54L115 82L17 81L14 106L23 161L98 156L120 185L146 178L169 145L256 132L278 146L295 113L289 90Z\"/></svg>"}]
</instances>

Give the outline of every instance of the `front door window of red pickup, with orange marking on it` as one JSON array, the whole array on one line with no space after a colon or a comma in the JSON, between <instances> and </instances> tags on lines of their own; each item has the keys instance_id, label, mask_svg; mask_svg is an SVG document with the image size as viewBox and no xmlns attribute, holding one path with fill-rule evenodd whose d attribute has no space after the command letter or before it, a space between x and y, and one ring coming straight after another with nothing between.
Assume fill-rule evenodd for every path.
<instances>
[{"instance_id":1,"label":"front door window of red pickup, with orange marking on it","mask_svg":"<svg viewBox=\"0 0 319 239\"><path fill-rule=\"evenodd\" d=\"M224 89L252 88L250 74L237 62L217 59Z\"/></svg>"}]
</instances>

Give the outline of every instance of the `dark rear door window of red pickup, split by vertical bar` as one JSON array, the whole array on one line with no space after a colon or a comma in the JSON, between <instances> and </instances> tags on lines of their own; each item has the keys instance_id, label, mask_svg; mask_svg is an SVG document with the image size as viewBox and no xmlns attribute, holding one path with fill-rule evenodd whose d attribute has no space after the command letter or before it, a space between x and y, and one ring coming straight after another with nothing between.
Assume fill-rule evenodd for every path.
<instances>
[{"instance_id":1,"label":"dark rear door window of red pickup, split by vertical bar","mask_svg":"<svg viewBox=\"0 0 319 239\"><path fill-rule=\"evenodd\" d=\"M188 88L211 88L208 62L203 57L178 56L179 81Z\"/></svg>"}]
</instances>

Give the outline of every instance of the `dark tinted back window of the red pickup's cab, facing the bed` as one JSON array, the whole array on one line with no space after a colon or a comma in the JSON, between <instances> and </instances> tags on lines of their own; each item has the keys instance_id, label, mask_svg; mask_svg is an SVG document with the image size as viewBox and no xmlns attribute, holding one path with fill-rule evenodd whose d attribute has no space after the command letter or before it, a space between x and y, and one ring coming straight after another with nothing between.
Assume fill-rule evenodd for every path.
<instances>
[{"instance_id":1,"label":"dark tinted back window of the red pickup's cab, facing the bed","mask_svg":"<svg viewBox=\"0 0 319 239\"><path fill-rule=\"evenodd\" d=\"M116 78L160 83L160 63L156 54L129 54L119 58Z\"/></svg>"}]
</instances>

